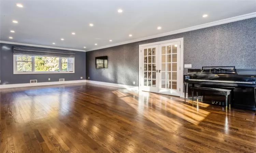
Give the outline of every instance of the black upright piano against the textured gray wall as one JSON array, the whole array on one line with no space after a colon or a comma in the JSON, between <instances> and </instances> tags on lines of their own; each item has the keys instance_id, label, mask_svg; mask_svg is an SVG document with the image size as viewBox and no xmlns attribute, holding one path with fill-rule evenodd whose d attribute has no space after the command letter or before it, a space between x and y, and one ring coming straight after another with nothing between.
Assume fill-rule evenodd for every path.
<instances>
[{"instance_id":1,"label":"black upright piano against the textured gray wall","mask_svg":"<svg viewBox=\"0 0 256 153\"><path fill-rule=\"evenodd\" d=\"M231 107L255 110L256 69L236 69L234 66L188 69L183 80L185 96L188 86L189 100L192 100L191 87L230 89ZM225 105L224 96L212 95L211 92L201 92L198 97L198 101L204 103Z\"/></svg>"}]
</instances>

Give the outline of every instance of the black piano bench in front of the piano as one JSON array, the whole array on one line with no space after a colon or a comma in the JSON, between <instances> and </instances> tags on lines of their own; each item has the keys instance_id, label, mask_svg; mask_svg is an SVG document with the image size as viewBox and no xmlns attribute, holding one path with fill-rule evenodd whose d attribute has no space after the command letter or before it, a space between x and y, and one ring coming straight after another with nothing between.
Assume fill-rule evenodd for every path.
<instances>
[{"instance_id":1,"label":"black piano bench in front of the piano","mask_svg":"<svg viewBox=\"0 0 256 153\"><path fill-rule=\"evenodd\" d=\"M197 92L197 105L198 105L198 91L211 91L214 95L223 95L225 96L225 102L226 102L226 112L228 112L228 103L229 103L229 109L230 109L230 92L231 90L228 89L219 89L219 88L207 88L207 87L191 87L192 90L192 102L194 105L194 91ZM229 97L229 98L228 98ZM186 97L185 97L186 99ZM229 100L229 101L228 101Z\"/></svg>"}]
</instances>

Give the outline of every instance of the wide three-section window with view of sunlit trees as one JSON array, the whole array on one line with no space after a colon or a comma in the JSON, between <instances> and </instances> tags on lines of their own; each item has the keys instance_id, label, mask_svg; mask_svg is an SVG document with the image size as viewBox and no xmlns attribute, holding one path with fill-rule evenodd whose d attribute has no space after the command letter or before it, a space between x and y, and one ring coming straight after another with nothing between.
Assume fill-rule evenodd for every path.
<instances>
[{"instance_id":1,"label":"wide three-section window with view of sunlit trees","mask_svg":"<svg viewBox=\"0 0 256 153\"><path fill-rule=\"evenodd\" d=\"M74 73L73 57L14 55L14 74Z\"/></svg>"}]
</instances>

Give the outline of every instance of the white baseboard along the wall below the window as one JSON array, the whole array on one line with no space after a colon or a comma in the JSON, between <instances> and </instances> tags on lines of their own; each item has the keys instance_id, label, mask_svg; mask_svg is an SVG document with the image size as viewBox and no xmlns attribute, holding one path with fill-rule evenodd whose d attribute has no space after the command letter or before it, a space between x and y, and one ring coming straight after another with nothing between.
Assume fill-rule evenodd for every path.
<instances>
[{"instance_id":1,"label":"white baseboard along the wall below the window","mask_svg":"<svg viewBox=\"0 0 256 153\"><path fill-rule=\"evenodd\" d=\"M17 87L31 87L31 86L45 86L56 84L69 84L69 83L85 83L86 80L74 80L74 81L56 81L56 82L39 82L39 83L22 83L22 84L3 84L0 88L17 88Z\"/></svg>"}]
</instances>

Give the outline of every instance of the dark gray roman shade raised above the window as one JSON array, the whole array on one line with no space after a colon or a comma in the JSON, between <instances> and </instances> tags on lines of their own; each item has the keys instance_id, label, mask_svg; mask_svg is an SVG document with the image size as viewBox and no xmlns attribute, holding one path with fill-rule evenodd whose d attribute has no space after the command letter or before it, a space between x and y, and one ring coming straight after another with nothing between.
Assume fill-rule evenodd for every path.
<instances>
[{"instance_id":1,"label":"dark gray roman shade raised above the window","mask_svg":"<svg viewBox=\"0 0 256 153\"><path fill-rule=\"evenodd\" d=\"M14 55L39 55L39 56L54 56L54 57L75 57L72 51L60 51L50 49L37 49L27 47L13 47Z\"/></svg>"}]
</instances>

